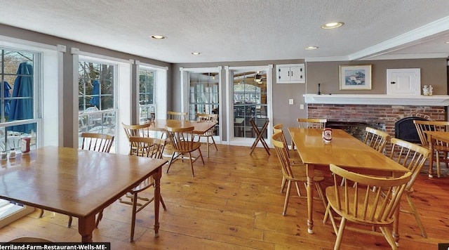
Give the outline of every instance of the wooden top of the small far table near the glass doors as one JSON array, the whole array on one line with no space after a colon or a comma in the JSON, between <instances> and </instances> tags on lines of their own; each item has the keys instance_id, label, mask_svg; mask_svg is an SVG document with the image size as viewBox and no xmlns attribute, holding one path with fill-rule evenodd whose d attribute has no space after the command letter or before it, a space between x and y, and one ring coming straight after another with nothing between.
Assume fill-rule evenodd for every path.
<instances>
[{"instance_id":1,"label":"wooden top of the small far table near the glass doors","mask_svg":"<svg viewBox=\"0 0 449 250\"><path fill-rule=\"evenodd\" d=\"M149 130L152 131L166 131L166 126L174 128L187 128L189 126L194 126L194 133L205 133L213 126L217 124L211 121L180 121L180 120L169 120L169 119L155 119L152 121L152 125Z\"/></svg>"}]
</instances>

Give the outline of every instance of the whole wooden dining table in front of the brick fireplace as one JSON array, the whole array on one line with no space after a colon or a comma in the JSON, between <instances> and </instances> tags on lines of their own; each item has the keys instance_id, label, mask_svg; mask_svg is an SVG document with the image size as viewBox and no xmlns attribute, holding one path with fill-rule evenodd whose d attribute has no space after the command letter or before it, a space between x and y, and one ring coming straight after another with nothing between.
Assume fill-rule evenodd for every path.
<instances>
[{"instance_id":1,"label":"whole wooden dining table in front of the brick fireplace","mask_svg":"<svg viewBox=\"0 0 449 250\"><path fill-rule=\"evenodd\" d=\"M288 128L302 162L307 167L307 231L313 233L313 197L315 169L330 172L335 164L356 173L376 176L402 176L408 169L377 152L361 140L341 129L333 129L333 139L325 143L323 129ZM399 207L399 206L398 206ZM394 238L398 242L398 212L394 223Z\"/></svg>"}]
</instances>

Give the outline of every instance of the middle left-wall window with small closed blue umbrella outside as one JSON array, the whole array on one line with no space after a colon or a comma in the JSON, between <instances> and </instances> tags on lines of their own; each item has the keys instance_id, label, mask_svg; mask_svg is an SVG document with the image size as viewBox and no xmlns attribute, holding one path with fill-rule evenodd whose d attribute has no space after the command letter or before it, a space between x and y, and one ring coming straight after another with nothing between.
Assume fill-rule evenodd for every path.
<instances>
[{"instance_id":1,"label":"middle left-wall window with small closed blue umbrella outside","mask_svg":"<svg viewBox=\"0 0 449 250\"><path fill-rule=\"evenodd\" d=\"M79 133L115 136L116 65L79 61ZM81 145L81 143L79 143ZM114 152L114 147L112 147Z\"/></svg>"}]
</instances>

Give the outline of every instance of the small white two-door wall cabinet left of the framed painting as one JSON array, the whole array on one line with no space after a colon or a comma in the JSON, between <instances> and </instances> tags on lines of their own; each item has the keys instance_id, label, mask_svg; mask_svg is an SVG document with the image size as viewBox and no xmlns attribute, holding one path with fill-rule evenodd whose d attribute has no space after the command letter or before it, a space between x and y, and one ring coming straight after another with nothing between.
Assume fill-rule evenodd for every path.
<instances>
[{"instance_id":1,"label":"small white two-door wall cabinet left of the framed painting","mask_svg":"<svg viewBox=\"0 0 449 250\"><path fill-rule=\"evenodd\" d=\"M278 84L305 84L304 63L276 65L276 82Z\"/></svg>"}]
</instances>

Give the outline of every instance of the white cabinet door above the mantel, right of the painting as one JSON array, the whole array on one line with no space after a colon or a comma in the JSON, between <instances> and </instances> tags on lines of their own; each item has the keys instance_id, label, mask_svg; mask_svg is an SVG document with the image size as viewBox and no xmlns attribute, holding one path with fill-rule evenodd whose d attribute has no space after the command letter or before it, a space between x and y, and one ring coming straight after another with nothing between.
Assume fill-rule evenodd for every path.
<instances>
[{"instance_id":1,"label":"white cabinet door above the mantel, right of the painting","mask_svg":"<svg viewBox=\"0 0 449 250\"><path fill-rule=\"evenodd\" d=\"M387 95L421 94L420 69L387 69Z\"/></svg>"}]
</instances>

